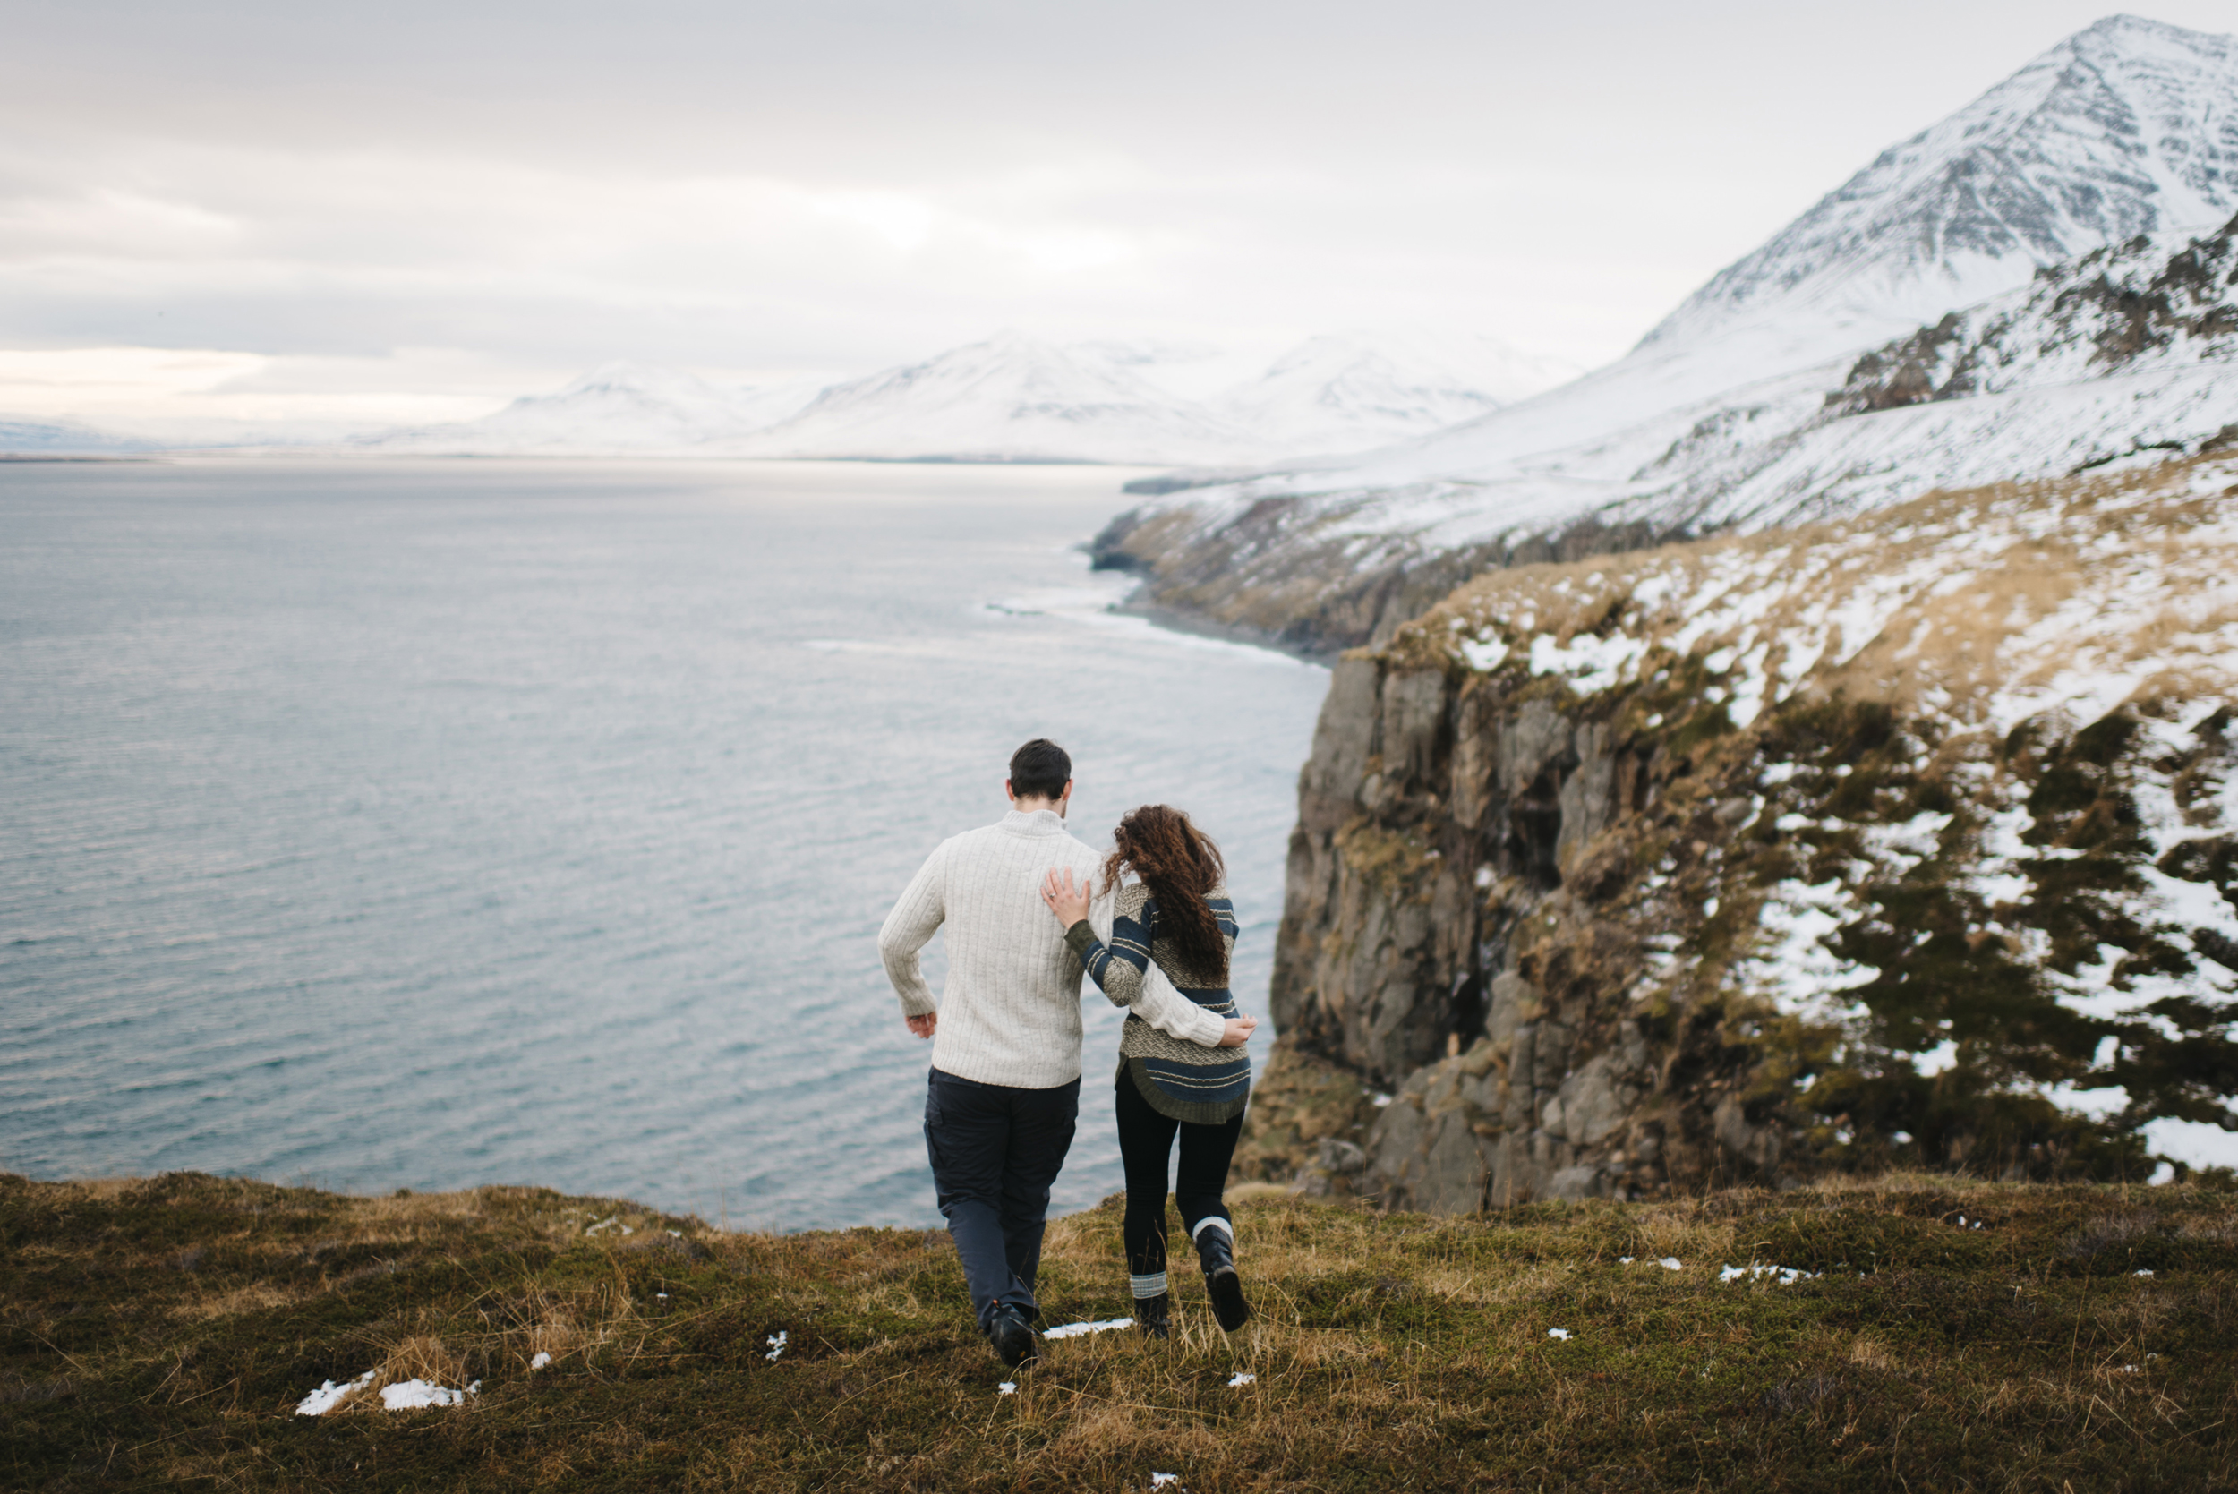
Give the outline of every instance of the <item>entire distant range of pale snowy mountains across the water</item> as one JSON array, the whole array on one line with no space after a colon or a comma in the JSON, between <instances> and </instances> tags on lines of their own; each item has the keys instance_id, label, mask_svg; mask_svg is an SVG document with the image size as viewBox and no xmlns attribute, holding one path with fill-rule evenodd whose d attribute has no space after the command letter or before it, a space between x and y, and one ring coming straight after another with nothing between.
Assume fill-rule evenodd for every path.
<instances>
[{"instance_id":1,"label":"entire distant range of pale snowy mountains across the water","mask_svg":"<svg viewBox=\"0 0 2238 1494\"><path fill-rule=\"evenodd\" d=\"M759 389L604 365L481 420L383 432L376 452L1242 465L1358 452L1546 389L1573 369L1491 338L1311 338L1264 374L1211 347L1052 344L1016 331L841 382ZM1179 374L1179 376L1177 376ZM1206 376L1224 387L1193 391Z\"/></svg>"}]
</instances>

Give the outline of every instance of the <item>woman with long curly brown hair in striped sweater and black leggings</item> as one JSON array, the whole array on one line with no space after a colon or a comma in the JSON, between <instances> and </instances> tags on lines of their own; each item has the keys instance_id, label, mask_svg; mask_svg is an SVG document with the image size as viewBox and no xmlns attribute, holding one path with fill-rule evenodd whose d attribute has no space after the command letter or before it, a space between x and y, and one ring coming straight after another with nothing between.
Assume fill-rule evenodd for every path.
<instances>
[{"instance_id":1,"label":"woman with long curly brown hair in striped sweater and black leggings","mask_svg":"<svg viewBox=\"0 0 2238 1494\"><path fill-rule=\"evenodd\" d=\"M1251 1098L1242 1044L1258 1027L1256 1018L1235 1015L1229 997L1235 910L1220 848L1179 810L1144 805L1119 821L1112 841L1097 899L1099 913L1110 899L1108 942L1090 928L1090 888L1074 888L1070 870L1050 872L1041 895L1103 995L1130 1009L1119 1033L1115 1100L1135 1320L1150 1337L1166 1337L1166 1165L1179 1134L1173 1194L1197 1244L1213 1317L1233 1333L1251 1308L1235 1275L1235 1226L1220 1194ZM1144 980L1153 959L1186 1000L1164 991L1166 982Z\"/></svg>"}]
</instances>

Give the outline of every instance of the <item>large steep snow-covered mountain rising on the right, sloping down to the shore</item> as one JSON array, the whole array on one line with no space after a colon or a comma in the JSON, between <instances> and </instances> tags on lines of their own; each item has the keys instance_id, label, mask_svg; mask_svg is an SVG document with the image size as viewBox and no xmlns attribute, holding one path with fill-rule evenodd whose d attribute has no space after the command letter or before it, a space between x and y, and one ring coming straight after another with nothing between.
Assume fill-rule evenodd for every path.
<instances>
[{"instance_id":1,"label":"large steep snow-covered mountain rising on the right, sloping down to the shore","mask_svg":"<svg viewBox=\"0 0 2238 1494\"><path fill-rule=\"evenodd\" d=\"M1381 595L1314 631L1341 646L1399 602L1381 573L1426 557L1484 564L1578 526L1764 526L2066 472L2140 443L2198 450L2238 416L2218 324L2157 329L2151 358L2110 349L2146 335L2124 320L2124 293L2207 295L2184 289L2175 259L2234 208L2238 47L2117 16L1884 152L1616 365L1421 441L1179 494L1115 521L1101 552L1193 595L1215 568L1238 597L1280 579L1323 613ZM2090 257L2115 244L2128 248ZM2072 259L2039 282L2054 250ZM2104 295L2086 289L2099 277ZM1967 376L1922 371L1940 376L1940 398L1842 394L1864 353L1969 304L1981 311L1949 333L1981 342ZM1130 550L1135 530L1155 546Z\"/></svg>"}]
</instances>

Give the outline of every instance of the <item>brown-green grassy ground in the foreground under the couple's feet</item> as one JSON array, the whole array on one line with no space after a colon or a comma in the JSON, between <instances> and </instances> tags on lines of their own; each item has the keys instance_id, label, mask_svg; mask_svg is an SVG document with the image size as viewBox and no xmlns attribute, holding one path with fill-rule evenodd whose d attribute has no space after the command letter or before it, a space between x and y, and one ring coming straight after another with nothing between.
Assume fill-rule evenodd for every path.
<instances>
[{"instance_id":1,"label":"brown-green grassy ground in the foreground under the couple's feet","mask_svg":"<svg viewBox=\"0 0 2238 1494\"><path fill-rule=\"evenodd\" d=\"M2238 1483L2231 1194L1900 1176L1477 1219L1260 1197L1240 1219L1253 1326L1224 1340L1188 1282L1173 1342L1074 1337L1005 1375L938 1232L0 1176L0 1485ZM1050 1322L1128 1311L1117 1239L1110 1205L1052 1226ZM380 1409L414 1378L481 1389Z\"/></svg>"}]
</instances>

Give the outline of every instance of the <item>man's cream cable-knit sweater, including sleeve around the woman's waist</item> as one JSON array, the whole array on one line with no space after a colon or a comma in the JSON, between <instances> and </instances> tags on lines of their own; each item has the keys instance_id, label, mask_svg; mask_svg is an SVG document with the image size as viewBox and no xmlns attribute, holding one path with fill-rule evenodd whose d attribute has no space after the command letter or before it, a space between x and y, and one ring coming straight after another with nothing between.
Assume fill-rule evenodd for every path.
<instances>
[{"instance_id":1,"label":"man's cream cable-knit sweater, including sleeve around the woman's waist","mask_svg":"<svg viewBox=\"0 0 2238 1494\"><path fill-rule=\"evenodd\" d=\"M1081 1076L1081 962L1041 901L1041 877L1072 868L1085 883L1101 861L1054 810L1012 810L927 857L877 930L877 953L906 1015L940 1013L935 1069L1014 1089L1054 1089ZM1110 919L1103 890L1088 913L1097 937L1110 939ZM935 1002L918 951L942 926L949 980ZM1132 1011L1188 1042L1215 1044L1226 1027L1155 964Z\"/></svg>"}]
</instances>

